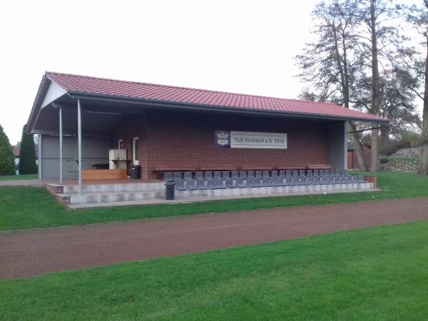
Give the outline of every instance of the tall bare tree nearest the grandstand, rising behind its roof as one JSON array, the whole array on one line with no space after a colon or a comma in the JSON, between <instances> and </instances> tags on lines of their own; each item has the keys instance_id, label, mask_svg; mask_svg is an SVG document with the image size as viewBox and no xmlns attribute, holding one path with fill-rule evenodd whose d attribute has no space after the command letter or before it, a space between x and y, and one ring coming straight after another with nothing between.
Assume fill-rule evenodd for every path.
<instances>
[{"instance_id":1,"label":"tall bare tree nearest the grandstand, rising behind its roof","mask_svg":"<svg viewBox=\"0 0 428 321\"><path fill-rule=\"evenodd\" d=\"M330 101L350 108L350 91L355 81L355 73L360 62L353 52L358 41L357 2L353 0L322 1L312 11L317 21L312 31L317 39L306 44L303 54L296 56L302 72L300 78L309 84L300 98L312 101ZM360 136L355 123L350 123L360 170L367 170L362 153Z\"/></svg>"}]
</instances>

